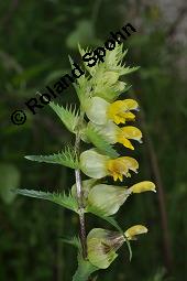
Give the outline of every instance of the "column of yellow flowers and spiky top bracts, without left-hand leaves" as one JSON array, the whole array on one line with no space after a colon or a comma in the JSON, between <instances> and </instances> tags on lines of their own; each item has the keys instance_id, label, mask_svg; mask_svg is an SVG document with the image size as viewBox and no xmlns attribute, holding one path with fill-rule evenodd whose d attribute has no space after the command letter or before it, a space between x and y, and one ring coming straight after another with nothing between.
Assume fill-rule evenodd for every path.
<instances>
[{"instance_id":1,"label":"column of yellow flowers and spiky top bracts, without left-hand leaves","mask_svg":"<svg viewBox=\"0 0 187 281\"><path fill-rule=\"evenodd\" d=\"M125 155L127 150L134 150L135 141L142 143L141 130L132 125L139 104L131 98L119 98L120 94L128 89L127 84L119 80L120 76L131 72L131 68L122 64L125 53L122 45L108 52L105 63L88 69L89 78L85 77L87 83L81 78L78 86L80 104L89 119L87 126L92 129L92 136L87 133L89 130L82 130L82 139L96 145L84 151L79 159L81 171L92 179L88 181L95 182L90 188L84 187L86 209L97 209L105 216L116 214L131 194L155 192L155 185L150 181L136 183L129 188L98 182L106 176L112 177L114 182L124 182L125 177L139 170L138 161ZM114 143L123 144L124 155L112 155L107 153L107 150L103 151L94 133L101 138L100 142L103 139L112 148ZM87 185L85 181L82 186L89 186L89 183ZM87 236L88 259L98 268L108 268L125 240L134 240L138 235L145 233L147 228L142 225L132 226L123 234L95 228Z\"/></svg>"}]
</instances>

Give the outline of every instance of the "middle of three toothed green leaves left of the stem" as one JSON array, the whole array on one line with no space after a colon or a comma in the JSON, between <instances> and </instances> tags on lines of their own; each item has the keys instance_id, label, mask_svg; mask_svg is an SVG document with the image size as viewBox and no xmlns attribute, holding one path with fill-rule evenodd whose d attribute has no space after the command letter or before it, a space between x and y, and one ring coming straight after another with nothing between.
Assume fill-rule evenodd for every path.
<instances>
[{"instance_id":1,"label":"middle of three toothed green leaves left of the stem","mask_svg":"<svg viewBox=\"0 0 187 281\"><path fill-rule=\"evenodd\" d=\"M26 155L25 159L37 162L45 162L52 164L61 164L72 169L78 167L78 159L75 150L69 145L66 147L65 151L58 152L53 155Z\"/></svg>"}]
</instances>

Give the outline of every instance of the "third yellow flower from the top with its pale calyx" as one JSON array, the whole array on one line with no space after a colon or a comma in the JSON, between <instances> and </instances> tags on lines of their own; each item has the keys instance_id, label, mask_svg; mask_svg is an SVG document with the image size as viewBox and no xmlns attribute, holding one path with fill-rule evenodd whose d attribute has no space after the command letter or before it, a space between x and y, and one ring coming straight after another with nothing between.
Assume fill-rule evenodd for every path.
<instances>
[{"instance_id":1,"label":"third yellow flower from the top with its pale calyx","mask_svg":"<svg viewBox=\"0 0 187 281\"><path fill-rule=\"evenodd\" d=\"M123 175L131 176L130 170L136 173L139 163L130 156L110 159L98 153L96 149L90 149L80 154L80 169L86 175L94 179L110 175L114 181L118 179L122 181Z\"/></svg>"}]
</instances>

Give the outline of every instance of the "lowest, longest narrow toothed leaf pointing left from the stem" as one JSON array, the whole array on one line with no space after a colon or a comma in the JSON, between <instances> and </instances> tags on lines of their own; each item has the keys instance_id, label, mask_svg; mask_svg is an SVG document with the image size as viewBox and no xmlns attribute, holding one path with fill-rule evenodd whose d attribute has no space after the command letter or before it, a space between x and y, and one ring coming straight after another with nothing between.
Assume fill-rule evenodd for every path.
<instances>
[{"instance_id":1,"label":"lowest, longest narrow toothed leaf pointing left from the stem","mask_svg":"<svg viewBox=\"0 0 187 281\"><path fill-rule=\"evenodd\" d=\"M51 201L55 204L58 204L65 208L72 209L78 213L78 204L77 201L69 194L66 195L65 193L50 193L50 192L42 192L42 191L33 191L33 190L15 190L16 194L24 195L28 197L33 197L37 199L46 199Z\"/></svg>"}]
</instances>

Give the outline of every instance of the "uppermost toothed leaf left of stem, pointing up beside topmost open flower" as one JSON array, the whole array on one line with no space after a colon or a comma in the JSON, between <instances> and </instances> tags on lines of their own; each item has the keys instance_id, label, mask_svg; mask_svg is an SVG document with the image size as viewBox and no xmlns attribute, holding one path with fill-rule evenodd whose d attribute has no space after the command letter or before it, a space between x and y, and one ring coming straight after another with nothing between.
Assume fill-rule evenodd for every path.
<instances>
[{"instance_id":1,"label":"uppermost toothed leaf left of stem, pointing up beside topmost open flower","mask_svg":"<svg viewBox=\"0 0 187 281\"><path fill-rule=\"evenodd\" d=\"M54 102L50 102L50 106L61 118L66 128L75 133L79 122L79 111L76 109L76 107L73 108L70 105L69 108L64 108L63 106L57 104L55 105Z\"/></svg>"}]
</instances>

